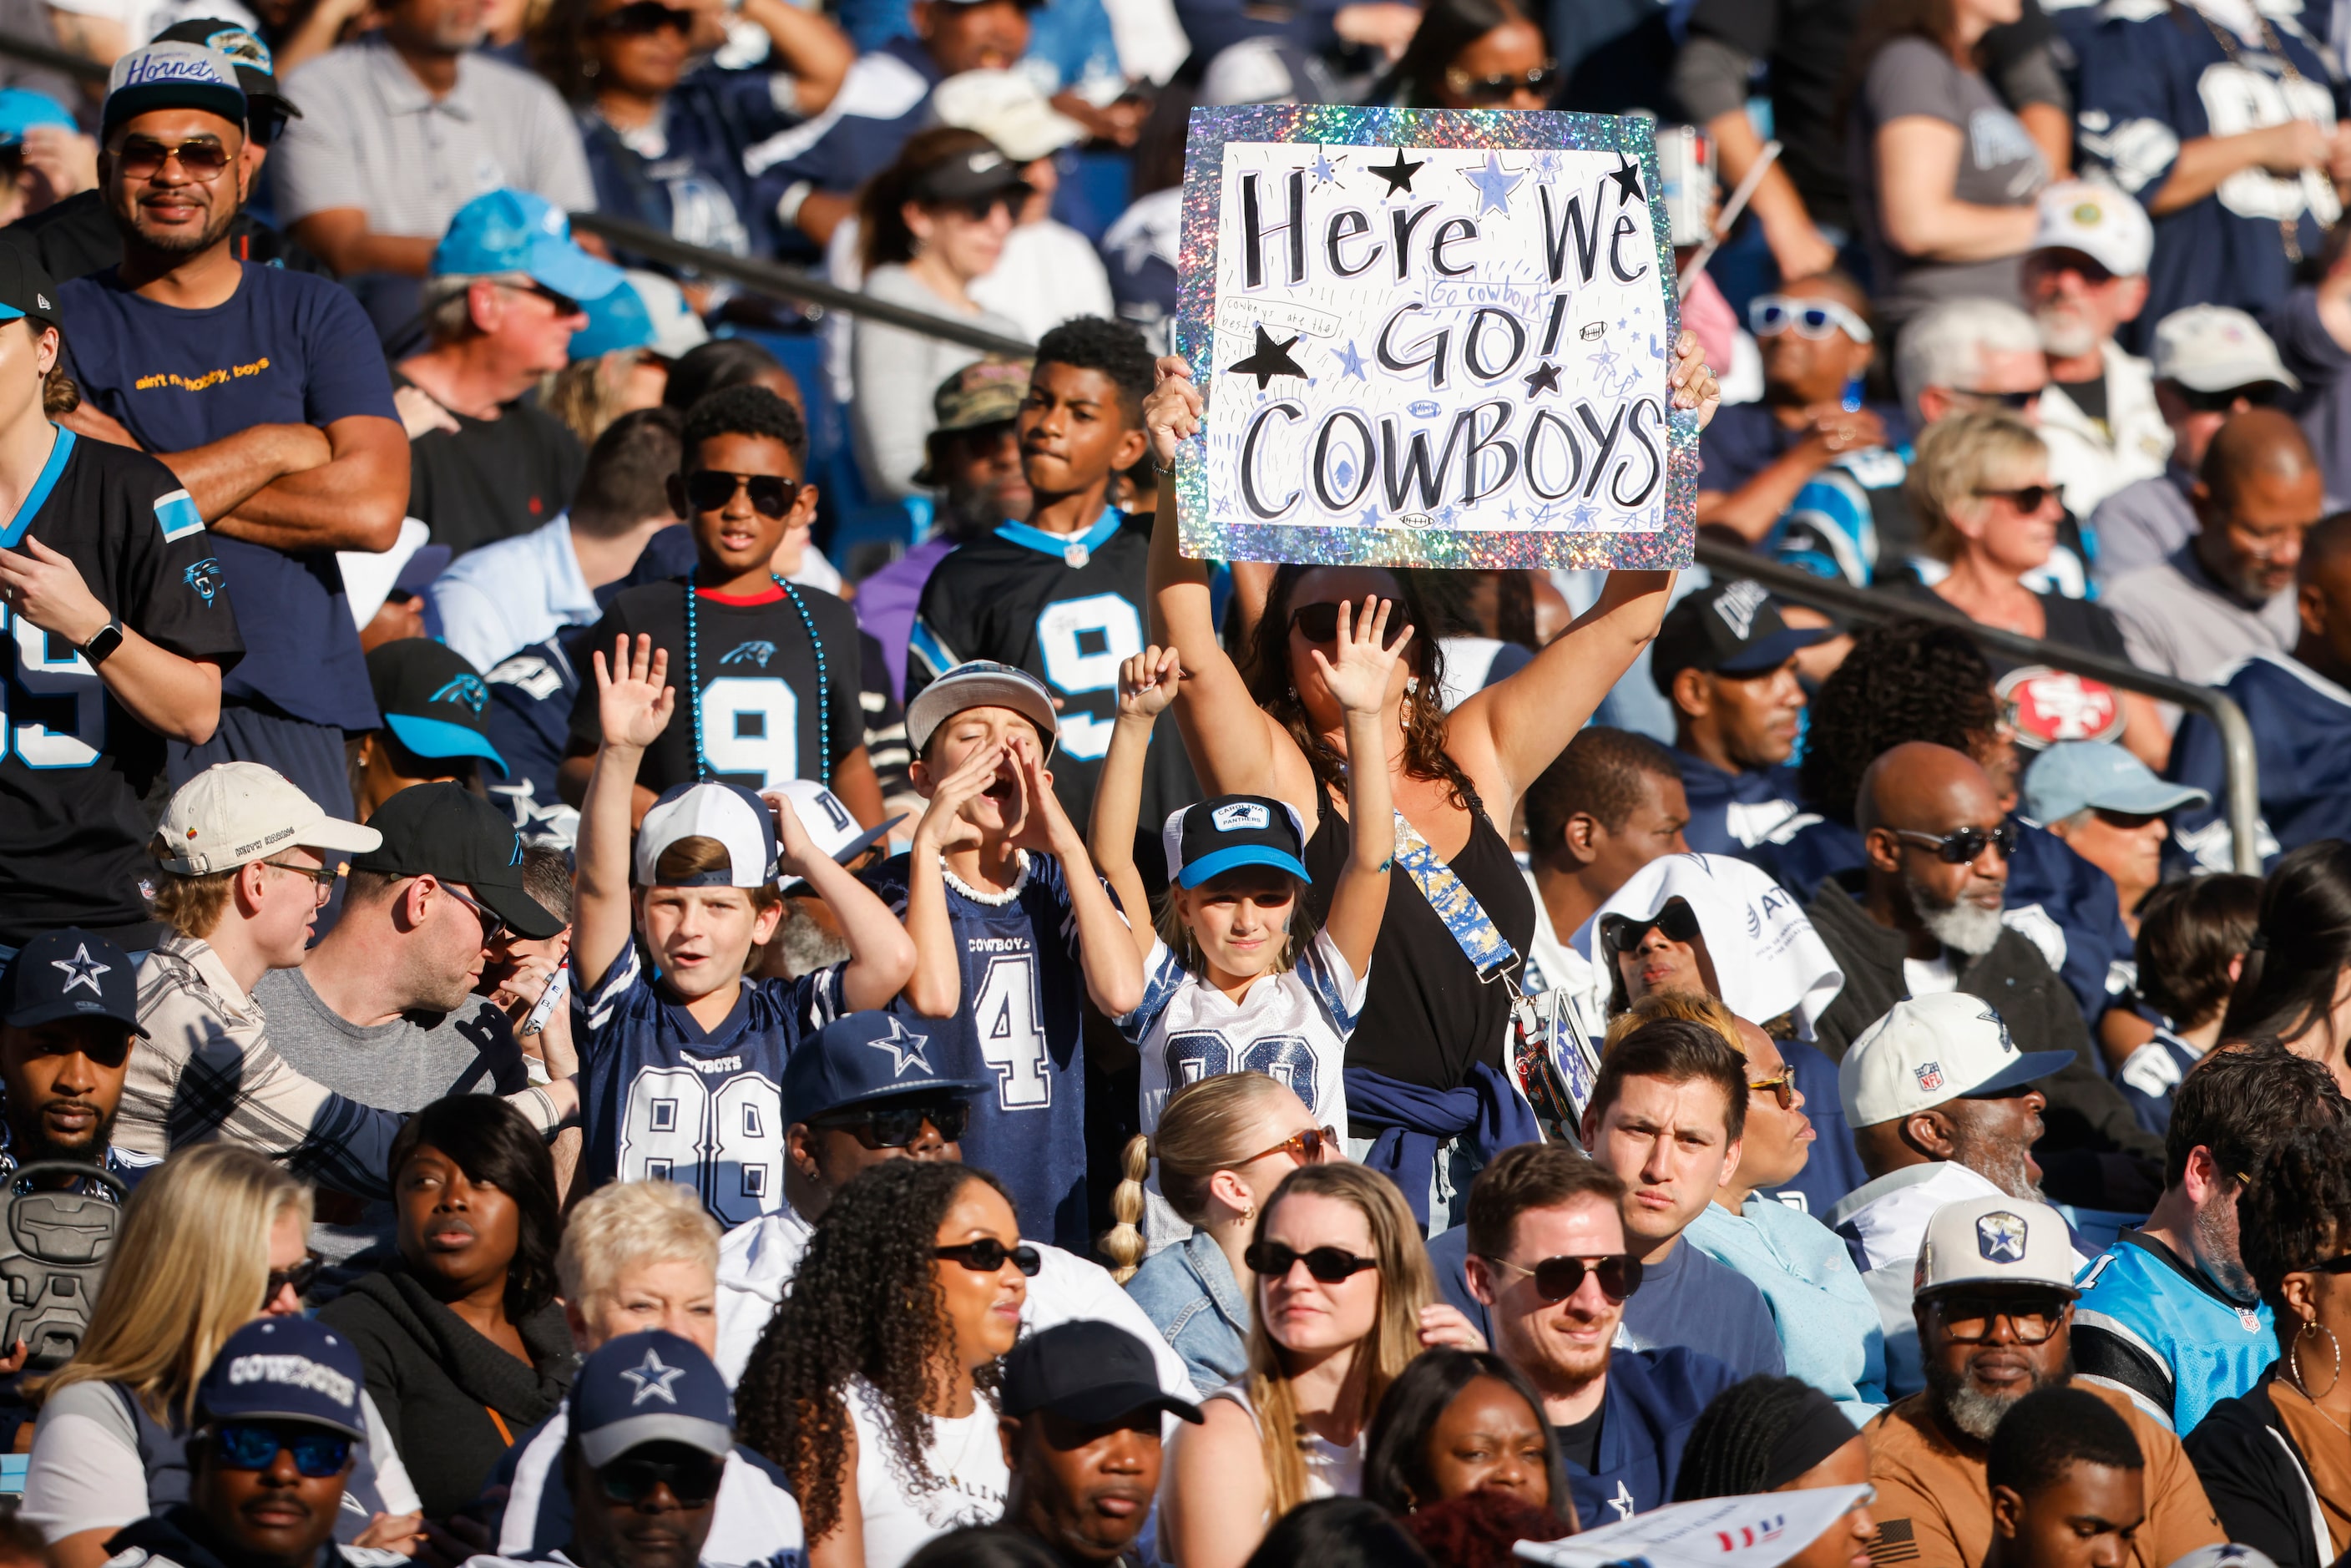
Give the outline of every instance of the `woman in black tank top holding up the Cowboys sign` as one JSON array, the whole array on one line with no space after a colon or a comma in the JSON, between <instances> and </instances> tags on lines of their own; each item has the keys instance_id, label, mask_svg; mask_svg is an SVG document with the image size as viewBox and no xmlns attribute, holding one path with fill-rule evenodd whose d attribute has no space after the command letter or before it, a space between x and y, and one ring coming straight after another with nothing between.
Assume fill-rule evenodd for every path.
<instances>
[{"instance_id":1,"label":"woman in black tank top holding up the Cowboys sign","mask_svg":"<svg viewBox=\"0 0 2351 1568\"><path fill-rule=\"evenodd\" d=\"M1714 374L1695 334L1683 331L1674 348L1674 407L1697 409L1704 423L1716 404ZM1199 430L1204 407L1190 367L1161 360L1159 388L1143 409L1161 470ZM1505 1077L1514 976L1535 905L1502 830L1526 788L1657 635L1672 583L1672 571L1613 571L1599 602L1531 665L1451 712L1439 698L1436 637L1413 637L1396 661L1380 724L1399 875L1387 879L1371 990L1347 1041L1347 1114L1349 1152L1394 1175L1429 1229L1460 1218L1455 1208L1488 1157L1540 1135ZM1342 602L1385 597L1418 611L1418 595L1382 567L1281 567L1244 675L1215 635L1208 564L1178 550L1173 508L1152 536L1150 590L1152 642L1183 651L1176 719L1201 788L1295 806L1310 835L1312 898L1328 900L1354 827L1345 816L1345 715L1314 651L1333 646Z\"/></svg>"}]
</instances>

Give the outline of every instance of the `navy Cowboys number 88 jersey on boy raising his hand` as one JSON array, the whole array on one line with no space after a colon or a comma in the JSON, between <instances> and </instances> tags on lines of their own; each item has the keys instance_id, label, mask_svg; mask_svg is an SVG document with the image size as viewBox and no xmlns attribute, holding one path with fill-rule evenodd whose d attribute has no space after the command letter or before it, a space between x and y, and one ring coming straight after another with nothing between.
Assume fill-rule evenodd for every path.
<instances>
[{"instance_id":1,"label":"navy Cowboys number 88 jersey on boy raising his hand","mask_svg":"<svg viewBox=\"0 0 2351 1568\"><path fill-rule=\"evenodd\" d=\"M844 1006L835 964L745 980L726 1023L703 1030L630 943L595 987L571 992L585 1190L672 1180L729 1229L783 1208L783 1063Z\"/></svg>"}]
</instances>

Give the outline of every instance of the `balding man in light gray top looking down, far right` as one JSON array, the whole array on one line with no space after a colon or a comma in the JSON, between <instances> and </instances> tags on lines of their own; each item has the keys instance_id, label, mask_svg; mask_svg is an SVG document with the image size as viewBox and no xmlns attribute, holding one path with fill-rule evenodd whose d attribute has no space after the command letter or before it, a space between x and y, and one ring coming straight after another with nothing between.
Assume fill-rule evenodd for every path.
<instances>
[{"instance_id":1,"label":"balding man in light gray top looking down, far right","mask_svg":"<svg viewBox=\"0 0 2351 1568\"><path fill-rule=\"evenodd\" d=\"M2208 684L2241 658L2295 646L2295 562L2325 510L2325 477L2302 425L2245 409L2205 447L2189 503L2196 536L2114 583L2104 604L2123 623L2132 663Z\"/></svg>"}]
</instances>

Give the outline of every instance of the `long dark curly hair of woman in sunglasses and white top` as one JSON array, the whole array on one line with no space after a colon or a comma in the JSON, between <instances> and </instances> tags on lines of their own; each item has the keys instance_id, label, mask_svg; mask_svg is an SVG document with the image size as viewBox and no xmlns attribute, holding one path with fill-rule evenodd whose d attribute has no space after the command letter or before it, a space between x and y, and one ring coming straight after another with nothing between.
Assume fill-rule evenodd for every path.
<instances>
[{"instance_id":1,"label":"long dark curly hair of woman in sunglasses and white top","mask_svg":"<svg viewBox=\"0 0 2351 1568\"><path fill-rule=\"evenodd\" d=\"M938 1286L938 1227L969 1182L1004 1194L987 1171L886 1159L839 1190L809 1237L790 1295L776 1307L736 1389L741 1441L776 1462L799 1497L809 1540L842 1519L849 1382L879 1406L896 1472L922 1495L938 1488L924 1415L952 1373L952 1326ZM1004 1194L1011 1201L1011 1194ZM976 1382L994 1389L997 1368Z\"/></svg>"}]
</instances>

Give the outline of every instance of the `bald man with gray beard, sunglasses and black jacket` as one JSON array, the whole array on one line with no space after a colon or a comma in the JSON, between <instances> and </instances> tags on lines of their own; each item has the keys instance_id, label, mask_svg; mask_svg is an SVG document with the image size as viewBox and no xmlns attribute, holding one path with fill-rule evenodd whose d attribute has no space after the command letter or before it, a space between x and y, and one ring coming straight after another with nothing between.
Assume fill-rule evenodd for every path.
<instances>
[{"instance_id":1,"label":"bald man with gray beard, sunglasses and black jacket","mask_svg":"<svg viewBox=\"0 0 2351 1568\"><path fill-rule=\"evenodd\" d=\"M2001 924L2003 842L2012 842L2012 825L1984 769L1947 745L1897 745L1862 773L1853 809L1867 865L1824 879L1810 903L1813 926L1846 971L1846 990L1822 1013L1815 1044L1843 1058L1904 997L1954 990L1982 997L2022 1051L2074 1058L2043 1084L2045 1150L2081 1157L2062 1166L2064 1197L2083 1201L2083 1182L2123 1190L2154 1180L2161 1192L2161 1171L2132 1161L2161 1161L2163 1143L2139 1128L2121 1091L2095 1067L2074 992L2031 938ZM2088 1159L2116 1154L2128 1159Z\"/></svg>"}]
</instances>

